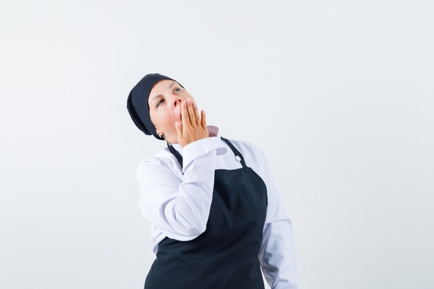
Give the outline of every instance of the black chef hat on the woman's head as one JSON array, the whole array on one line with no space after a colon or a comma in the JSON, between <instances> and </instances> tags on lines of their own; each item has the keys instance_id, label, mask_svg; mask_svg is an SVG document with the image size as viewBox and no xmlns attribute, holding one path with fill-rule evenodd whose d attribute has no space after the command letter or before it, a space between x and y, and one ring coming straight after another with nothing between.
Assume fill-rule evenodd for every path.
<instances>
[{"instance_id":1,"label":"black chef hat on the woman's head","mask_svg":"<svg viewBox=\"0 0 434 289\"><path fill-rule=\"evenodd\" d=\"M128 112L137 128L147 135L153 134L154 137L160 140L164 139L158 136L152 121L150 121L148 98L153 85L155 85L157 81L163 79L176 81L167 76L162 76L159 73L146 74L146 76L141 78L139 83L131 89L127 100ZM180 82L177 83L181 85ZM184 88L182 85L181 87Z\"/></svg>"}]
</instances>

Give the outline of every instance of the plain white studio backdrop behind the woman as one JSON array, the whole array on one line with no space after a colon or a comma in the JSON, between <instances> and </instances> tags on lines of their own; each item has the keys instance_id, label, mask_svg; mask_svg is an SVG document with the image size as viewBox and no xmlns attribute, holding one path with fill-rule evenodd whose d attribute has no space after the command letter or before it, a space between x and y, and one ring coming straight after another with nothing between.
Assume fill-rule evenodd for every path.
<instances>
[{"instance_id":1,"label":"plain white studio backdrop behind the woman","mask_svg":"<svg viewBox=\"0 0 434 289\"><path fill-rule=\"evenodd\" d=\"M433 8L1 1L0 288L143 288L135 173L166 146L126 108L146 73L266 153L300 288L433 288Z\"/></svg>"}]
</instances>

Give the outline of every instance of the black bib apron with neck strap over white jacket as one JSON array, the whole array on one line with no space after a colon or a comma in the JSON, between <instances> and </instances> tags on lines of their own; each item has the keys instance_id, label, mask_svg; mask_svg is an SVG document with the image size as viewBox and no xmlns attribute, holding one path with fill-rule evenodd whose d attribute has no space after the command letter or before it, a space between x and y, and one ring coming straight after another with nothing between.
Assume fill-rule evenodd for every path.
<instances>
[{"instance_id":1,"label":"black bib apron with neck strap over white jacket","mask_svg":"<svg viewBox=\"0 0 434 289\"><path fill-rule=\"evenodd\" d=\"M193 240L164 238L144 289L264 289L258 254L268 206L266 184L232 143L221 139L243 167L215 170L207 229ZM168 148L182 168L182 155Z\"/></svg>"}]
</instances>

